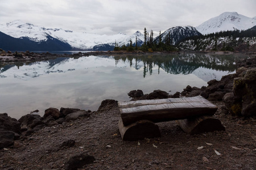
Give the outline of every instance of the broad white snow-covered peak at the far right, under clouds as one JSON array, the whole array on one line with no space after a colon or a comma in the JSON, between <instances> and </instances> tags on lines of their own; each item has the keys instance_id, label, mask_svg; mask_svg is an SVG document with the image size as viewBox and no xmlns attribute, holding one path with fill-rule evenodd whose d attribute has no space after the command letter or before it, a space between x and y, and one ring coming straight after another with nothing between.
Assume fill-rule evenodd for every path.
<instances>
[{"instance_id":1,"label":"broad white snow-covered peak at the far right, under clouds","mask_svg":"<svg viewBox=\"0 0 256 170\"><path fill-rule=\"evenodd\" d=\"M233 31L234 29L246 30L256 25L256 16L249 18L237 12L224 12L223 14L207 20L196 27L202 34Z\"/></svg>"}]
</instances>

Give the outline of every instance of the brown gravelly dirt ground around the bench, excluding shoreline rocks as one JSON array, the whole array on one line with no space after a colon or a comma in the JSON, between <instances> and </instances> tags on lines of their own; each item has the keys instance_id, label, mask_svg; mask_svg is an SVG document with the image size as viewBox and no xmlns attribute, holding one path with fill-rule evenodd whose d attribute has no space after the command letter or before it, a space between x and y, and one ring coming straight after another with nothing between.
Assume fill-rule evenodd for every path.
<instances>
[{"instance_id":1,"label":"brown gravelly dirt ground around the bench, excluding shoreline rocks","mask_svg":"<svg viewBox=\"0 0 256 170\"><path fill-rule=\"evenodd\" d=\"M64 169L73 155L89 154L81 169L256 169L256 121L221 113L225 131L189 135L175 121L158 123L162 137L122 141L120 115L108 112L43 128L0 151L0 169ZM61 148L69 139L75 146Z\"/></svg>"}]
</instances>

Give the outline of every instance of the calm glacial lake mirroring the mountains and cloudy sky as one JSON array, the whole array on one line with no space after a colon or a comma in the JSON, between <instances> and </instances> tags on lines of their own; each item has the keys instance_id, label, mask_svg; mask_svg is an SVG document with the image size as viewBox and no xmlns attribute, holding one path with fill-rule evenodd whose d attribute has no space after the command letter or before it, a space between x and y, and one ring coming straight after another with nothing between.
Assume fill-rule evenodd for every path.
<instances>
[{"instance_id":1,"label":"calm glacial lake mirroring the mountains and cloudy sky","mask_svg":"<svg viewBox=\"0 0 256 170\"><path fill-rule=\"evenodd\" d=\"M236 71L242 54L169 54L57 58L0 68L0 113L20 118L49 107L97 111L102 100L129 101L131 90L169 94L207 86Z\"/></svg>"}]
</instances>

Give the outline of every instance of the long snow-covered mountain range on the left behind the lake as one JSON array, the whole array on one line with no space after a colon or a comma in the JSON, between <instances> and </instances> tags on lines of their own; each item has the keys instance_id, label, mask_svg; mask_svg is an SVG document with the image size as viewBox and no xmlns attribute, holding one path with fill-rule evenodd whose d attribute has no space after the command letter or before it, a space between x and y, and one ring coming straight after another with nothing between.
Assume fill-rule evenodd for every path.
<instances>
[{"instance_id":1,"label":"long snow-covered mountain range on the left behind the lake","mask_svg":"<svg viewBox=\"0 0 256 170\"><path fill-rule=\"evenodd\" d=\"M93 33L74 32L61 28L44 28L30 23L24 23L22 20L0 24L0 31L14 38L27 37L35 42L43 42L48 40L48 36L60 40L72 46L73 49L90 50L94 46L100 44L109 44L114 46L115 41L118 44L127 44L130 39L135 42L137 36L138 41L143 40L143 35L137 31L134 35L125 35L118 33L115 35L97 35Z\"/></svg>"}]
</instances>

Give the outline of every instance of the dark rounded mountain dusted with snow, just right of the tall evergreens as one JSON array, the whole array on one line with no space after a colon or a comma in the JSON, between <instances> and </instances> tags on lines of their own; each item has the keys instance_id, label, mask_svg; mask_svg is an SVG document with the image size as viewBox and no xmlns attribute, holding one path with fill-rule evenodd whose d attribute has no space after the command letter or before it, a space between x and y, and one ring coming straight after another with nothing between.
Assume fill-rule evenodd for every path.
<instances>
[{"instance_id":1,"label":"dark rounded mountain dusted with snow, just right of the tall evergreens","mask_svg":"<svg viewBox=\"0 0 256 170\"><path fill-rule=\"evenodd\" d=\"M165 42L167 37L170 36L170 42L172 45L175 45L177 42L191 36L201 35L200 32L196 30L195 27L186 26L186 27L172 27L167 29L161 34L162 42ZM155 38L155 41L159 42L159 36Z\"/></svg>"}]
</instances>

